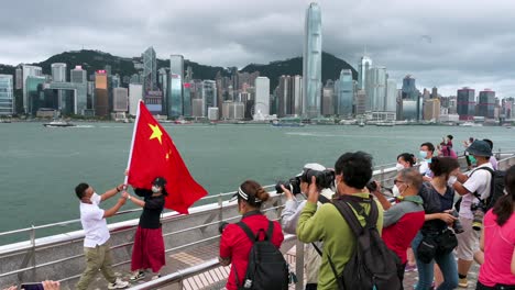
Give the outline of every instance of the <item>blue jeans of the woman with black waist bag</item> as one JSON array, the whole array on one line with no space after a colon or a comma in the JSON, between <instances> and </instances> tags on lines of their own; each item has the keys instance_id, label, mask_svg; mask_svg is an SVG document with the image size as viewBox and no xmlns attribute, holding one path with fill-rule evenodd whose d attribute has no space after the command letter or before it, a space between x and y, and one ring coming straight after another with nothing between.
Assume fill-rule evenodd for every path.
<instances>
[{"instance_id":1,"label":"blue jeans of the woman with black waist bag","mask_svg":"<svg viewBox=\"0 0 515 290\"><path fill-rule=\"evenodd\" d=\"M431 288L432 279L435 276L434 266L435 261L440 267L443 275L443 282L437 288L438 290L452 290L458 287L458 265L456 264L454 254L451 252L446 255L436 255L435 259L429 264L420 261L417 257L417 248L423 241L423 234L417 233L412 242L413 253L417 260L418 268L418 283L415 290L428 290Z\"/></svg>"}]
</instances>

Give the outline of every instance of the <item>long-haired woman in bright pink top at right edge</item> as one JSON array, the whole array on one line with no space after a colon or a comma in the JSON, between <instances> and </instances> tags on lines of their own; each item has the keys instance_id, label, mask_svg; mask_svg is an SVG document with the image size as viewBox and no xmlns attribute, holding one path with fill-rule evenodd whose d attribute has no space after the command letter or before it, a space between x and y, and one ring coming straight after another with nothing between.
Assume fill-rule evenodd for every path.
<instances>
[{"instance_id":1,"label":"long-haired woman in bright pink top at right edge","mask_svg":"<svg viewBox=\"0 0 515 290\"><path fill-rule=\"evenodd\" d=\"M504 187L506 196L484 215L476 290L515 289L515 166L506 170Z\"/></svg>"}]
</instances>

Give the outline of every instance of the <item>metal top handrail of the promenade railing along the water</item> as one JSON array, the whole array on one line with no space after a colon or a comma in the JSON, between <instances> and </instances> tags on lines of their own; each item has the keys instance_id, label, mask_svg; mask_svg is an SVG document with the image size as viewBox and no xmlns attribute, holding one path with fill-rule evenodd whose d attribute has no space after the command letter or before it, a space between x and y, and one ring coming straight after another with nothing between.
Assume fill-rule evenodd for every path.
<instances>
[{"instance_id":1,"label":"metal top handrail of the promenade railing along the water","mask_svg":"<svg viewBox=\"0 0 515 290\"><path fill-rule=\"evenodd\" d=\"M515 154L515 149L502 150L502 148L498 148L498 152L494 153L494 155L500 155L500 154ZM375 166L374 167L374 174L375 172L379 174L379 172L384 171L384 170L386 170L385 172L388 172L388 171L393 170L394 168L386 167L386 166L390 166L390 165L395 165L395 163ZM275 187L275 185L264 186L263 188L266 189L266 188L272 188L272 187ZM205 197L205 198L200 199L199 201L210 200L210 199L219 199L220 197L228 197L228 196L232 196L234 193L235 193L235 191L222 192L222 193ZM123 214L129 214L129 213L139 212L139 211L142 211L142 209L131 209L131 210L120 211L116 215L123 215ZM80 220L76 219L76 220L69 220L69 221L64 221L64 222L56 222L56 223L48 223L48 224L37 225L37 226L33 226L33 227L11 230L11 231L7 231L7 232L1 232L0 236L19 234L19 233L24 233L24 232L31 232L31 231L35 231L35 230L48 228L48 227L54 227L54 226L65 226L65 225L75 224L75 223L79 223L79 222L80 222Z\"/></svg>"}]
</instances>

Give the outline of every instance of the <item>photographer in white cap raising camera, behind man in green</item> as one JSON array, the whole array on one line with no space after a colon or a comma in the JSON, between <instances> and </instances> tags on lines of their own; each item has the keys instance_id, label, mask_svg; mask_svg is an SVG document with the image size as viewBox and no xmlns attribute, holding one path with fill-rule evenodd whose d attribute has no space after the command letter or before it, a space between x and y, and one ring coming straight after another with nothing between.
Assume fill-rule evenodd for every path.
<instances>
[{"instance_id":1,"label":"photographer in white cap raising camera, behind man in green","mask_svg":"<svg viewBox=\"0 0 515 290\"><path fill-rule=\"evenodd\" d=\"M281 214L281 225L283 231L288 234L296 234L298 217L306 205L306 194L308 193L308 187L310 181L310 176L315 174L316 176L327 176L325 180L321 181L325 187L321 188L320 197L324 198L324 201L319 201L318 205L328 202L332 194L335 193L329 187L333 183L335 172L327 170L326 167L319 164L306 164L300 172L295 178L289 179L289 182L286 185L278 183L280 188L276 188L277 193L284 192L286 198L286 204L284 207L283 213ZM321 198L320 198L321 199ZM317 253L315 246L318 250L322 249L322 245L319 242L315 242L314 245L307 244L305 247L305 265L306 265L306 290L317 289L318 281L318 270L320 268L321 254Z\"/></svg>"}]
</instances>

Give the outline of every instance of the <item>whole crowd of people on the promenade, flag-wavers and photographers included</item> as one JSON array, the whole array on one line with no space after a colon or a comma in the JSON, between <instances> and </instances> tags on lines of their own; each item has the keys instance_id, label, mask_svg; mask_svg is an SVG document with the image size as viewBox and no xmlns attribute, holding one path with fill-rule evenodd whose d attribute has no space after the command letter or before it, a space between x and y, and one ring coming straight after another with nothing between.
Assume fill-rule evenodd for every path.
<instances>
[{"instance_id":1,"label":"whole crowd of people on the promenade, flag-wavers and photographers included","mask_svg":"<svg viewBox=\"0 0 515 290\"><path fill-rule=\"evenodd\" d=\"M254 180L244 181L234 194L241 221L220 228L219 261L231 265L226 288L253 289L252 285L260 285L255 280L259 275L249 276L249 271L258 268L253 260L260 256L256 253L266 246L278 249L283 233L287 233L305 243L306 289L343 289L347 285L343 277L351 267L373 268L365 261L370 253L358 255L365 250L362 235L370 230L372 234L368 238L372 241L374 233L381 235L380 244L385 245L396 263L394 269L387 270L390 276L375 281L391 288L377 289L403 289L405 271L414 268L418 271L416 290L467 288L474 282L469 278L474 260L480 265L476 289L515 289L515 166L501 175L496 171L492 142L471 140L465 143L471 170L463 174L452 138L448 135L436 147L430 142L423 143L418 160L409 153L397 156L393 202L383 192L385 187L371 182L372 156L363 152L344 153L336 160L330 169L331 187L320 182L322 177L317 172L328 169L316 163L306 164L296 177L298 192L281 185L286 203L278 222L270 221L261 211L269 192ZM492 201L500 176L504 192ZM108 289L129 287L129 281L112 270L106 222L127 200L143 208L134 237L130 281L144 278L146 269L152 270L152 279L161 277L165 249L160 215L167 196L165 185L166 180L157 177L151 190L135 188L135 194L142 199L130 196L124 185L102 194L88 183L75 188L80 201L86 257L86 269L76 289L87 289L99 270L108 281ZM123 192L113 207L99 208L100 202L120 191ZM346 215L342 204L352 210L352 219L349 212ZM357 226L361 226L361 234ZM381 245L375 241L371 246ZM267 256L273 256L273 250L267 250ZM364 266L357 266L357 259L363 259ZM272 275L274 279L292 279L288 269L284 270L285 275L280 271L281 275ZM285 289L287 282L275 283L270 289ZM58 282L45 283L48 289L58 289Z\"/></svg>"}]
</instances>

